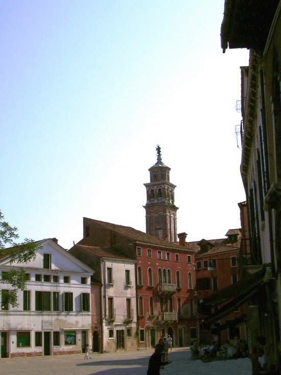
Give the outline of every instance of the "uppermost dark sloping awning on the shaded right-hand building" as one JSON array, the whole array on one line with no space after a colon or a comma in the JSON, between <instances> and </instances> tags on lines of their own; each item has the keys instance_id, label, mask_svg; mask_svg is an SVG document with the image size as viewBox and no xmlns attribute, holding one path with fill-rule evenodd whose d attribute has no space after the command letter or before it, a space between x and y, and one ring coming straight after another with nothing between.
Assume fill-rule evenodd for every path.
<instances>
[{"instance_id":1,"label":"uppermost dark sloping awning on the shaded right-hand building","mask_svg":"<svg viewBox=\"0 0 281 375\"><path fill-rule=\"evenodd\" d=\"M226 288L221 289L205 298L203 298L204 305L210 305L215 303L226 302L230 299L241 297L243 294L250 292L252 289L259 287L264 281L264 276L266 269L263 268L253 274L244 276L241 280L226 286Z\"/></svg>"}]
</instances>

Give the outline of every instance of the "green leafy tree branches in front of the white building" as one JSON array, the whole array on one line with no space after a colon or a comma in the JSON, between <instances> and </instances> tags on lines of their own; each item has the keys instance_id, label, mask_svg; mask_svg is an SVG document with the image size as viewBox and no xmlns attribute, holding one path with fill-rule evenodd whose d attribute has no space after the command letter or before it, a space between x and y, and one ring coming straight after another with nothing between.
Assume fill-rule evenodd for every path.
<instances>
[{"instance_id":1,"label":"green leafy tree branches in front of the white building","mask_svg":"<svg viewBox=\"0 0 281 375\"><path fill-rule=\"evenodd\" d=\"M16 227L11 227L4 221L4 215L0 211L0 259L10 257L11 263L27 263L35 259L37 251L42 247L32 239L25 238L22 242L17 242L19 238ZM5 302L13 307L17 306L17 291L24 290L26 286L25 271L20 268L2 272L2 282L9 283L8 295L5 295Z\"/></svg>"}]
</instances>

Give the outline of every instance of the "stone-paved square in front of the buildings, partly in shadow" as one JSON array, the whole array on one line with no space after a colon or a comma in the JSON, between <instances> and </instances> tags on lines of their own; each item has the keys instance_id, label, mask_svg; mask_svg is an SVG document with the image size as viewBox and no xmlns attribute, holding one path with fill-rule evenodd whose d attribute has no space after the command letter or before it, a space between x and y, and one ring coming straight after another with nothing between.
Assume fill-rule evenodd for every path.
<instances>
[{"instance_id":1,"label":"stone-paved square in front of the buildings, partly in shadow","mask_svg":"<svg viewBox=\"0 0 281 375\"><path fill-rule=\"evenodd\" d=\"M0 360L0 375L146 375L151 354L98 354L92 360L84 360L82 355L4 359ZM173 362L161 375L251 375L248 358L203 363L191 360L190 350L175 348L169 352L169 360Z\"/></svg>"}]
</instances>

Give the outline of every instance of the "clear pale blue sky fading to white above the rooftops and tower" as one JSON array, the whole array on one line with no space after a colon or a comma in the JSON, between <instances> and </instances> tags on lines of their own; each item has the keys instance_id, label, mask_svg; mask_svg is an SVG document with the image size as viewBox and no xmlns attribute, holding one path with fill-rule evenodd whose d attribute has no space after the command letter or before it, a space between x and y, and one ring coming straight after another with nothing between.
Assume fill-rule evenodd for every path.
<instances>
[{"instance_id":1,"label":"clear pale blue sky fading to white above the rooftops and tower","mask_svg":"<svg viewBox=\"0 0 281 375\"><path fill-rule=\"evenodd\" d=\"M160 144L189 240L240 227L235 125L248 51L220 48L223 0L13 1L0 13L0 209L21 237L82 217L145 231Z\"/></svg>"}]
</instances>

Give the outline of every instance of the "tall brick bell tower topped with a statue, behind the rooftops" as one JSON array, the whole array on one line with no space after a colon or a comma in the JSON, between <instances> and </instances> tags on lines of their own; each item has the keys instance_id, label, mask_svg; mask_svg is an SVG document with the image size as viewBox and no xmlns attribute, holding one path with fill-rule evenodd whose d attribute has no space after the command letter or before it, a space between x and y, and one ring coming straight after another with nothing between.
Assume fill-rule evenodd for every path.
<instances>
[{"instance_id":1,"label":"tall brick bell tower topped with a statue, behind the rooftops","mask_svg":"<svg viewBox=\"0 0 281 375\"><path fill-rule=\"evenodd\" d=\"M162 162L161 148L156 147L157 162L149 168L150 182L146 187L146 232L166 239L177 241L177 210L174 204L176 185L170 182L170 170Z\"/></svg>"}]
</instances>

